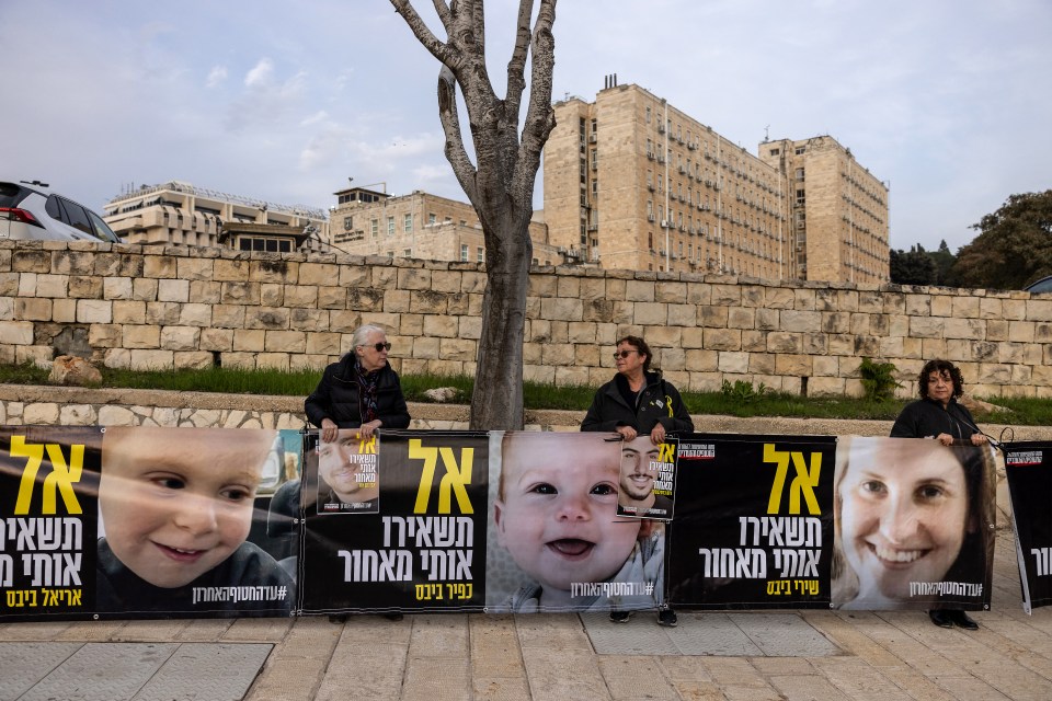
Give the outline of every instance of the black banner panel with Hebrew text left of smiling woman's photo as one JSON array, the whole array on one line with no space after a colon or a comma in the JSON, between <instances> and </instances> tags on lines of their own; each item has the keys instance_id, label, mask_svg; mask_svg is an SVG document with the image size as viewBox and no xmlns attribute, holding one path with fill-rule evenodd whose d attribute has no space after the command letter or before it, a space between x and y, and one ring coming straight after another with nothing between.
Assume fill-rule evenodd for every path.
<instances>
[{"instance_id":1,"label":"black banner panel with Hebrew text left of smiling woman's photo","mask_svg":"<svg viewBox=\"0 0 1052 701\"><path fill-rule=\"evenodd\" d=\"M676 608L828 608L836 439L679 436Z\"/></svg>"}]
</instances>

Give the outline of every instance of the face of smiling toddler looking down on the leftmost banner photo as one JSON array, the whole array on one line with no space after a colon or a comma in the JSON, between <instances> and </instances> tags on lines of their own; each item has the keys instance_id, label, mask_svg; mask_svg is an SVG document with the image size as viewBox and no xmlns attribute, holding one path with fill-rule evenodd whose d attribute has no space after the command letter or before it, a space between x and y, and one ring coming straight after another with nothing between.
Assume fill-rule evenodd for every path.
<instances>
[{"instance_id":1,"label":"face of smiling toddler looking down on the leftmost banner photo","mask_svg":"<svg viewBox=\"0 0 1052 701\"><path fill-rule=\"evenodd\" d=\"M99 506L106 542L159 587L190 584L248 538L263 464L277 433L110 427Z\"/></svg>"}]
</instances>

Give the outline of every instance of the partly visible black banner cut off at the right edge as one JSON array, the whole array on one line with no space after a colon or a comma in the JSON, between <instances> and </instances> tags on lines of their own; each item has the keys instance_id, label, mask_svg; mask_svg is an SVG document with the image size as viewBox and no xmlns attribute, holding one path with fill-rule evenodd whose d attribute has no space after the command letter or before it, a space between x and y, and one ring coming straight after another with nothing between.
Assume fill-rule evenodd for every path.
<instances>
[{"instance_id":1,"label":"partly visible black banner cut off at the right edge","mask_svg":"<svg viewBox=\"0 0 1052 701\"><path fill-rule=\"evenodd\" d=\"M1052 443L1005 444L1016 554L1027 613L1052 605Z\"/></svg>"}]
</instances>

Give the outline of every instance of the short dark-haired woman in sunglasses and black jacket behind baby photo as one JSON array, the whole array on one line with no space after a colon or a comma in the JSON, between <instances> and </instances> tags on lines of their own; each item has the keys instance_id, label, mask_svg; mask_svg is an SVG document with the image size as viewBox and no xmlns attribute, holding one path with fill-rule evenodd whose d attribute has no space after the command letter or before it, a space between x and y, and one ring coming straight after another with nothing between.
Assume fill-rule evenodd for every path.
<instances>
[{"instance_id":1,"label":"short dark-haired woman in sunglasses and black jacket behind baby photo","mask_svg":"<svg viewBox=\"0 0 1052 701\"><path fill-rule=\"evenodd\" d=\"M662 378L661 370L651 369L652 357L650 346L640 336L625 336L617 342L617 375L596 391L581 430L616 432L627 441L649 435L655 446L664 443L668 433L694 430L679 392ZM624 623L630 614L610 611L610 620ZM676 612L659 608L658 623L674 628L678 623Z\"/></svg>"}]
</instances>

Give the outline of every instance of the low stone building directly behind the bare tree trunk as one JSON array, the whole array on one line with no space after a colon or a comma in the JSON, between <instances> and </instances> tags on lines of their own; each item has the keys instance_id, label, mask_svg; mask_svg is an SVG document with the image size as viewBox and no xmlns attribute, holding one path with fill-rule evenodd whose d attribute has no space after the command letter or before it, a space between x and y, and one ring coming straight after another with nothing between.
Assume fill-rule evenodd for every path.
<instances>
[{"instance_id":1,"label":"low stone building directly behind the bare tree trunk","mask_svg":"<svg viewBox=\"0 0 1052 701\"><path fill-rule=\"evenodd\" d=\"M471 205L424 192L392 196L348 187L330 210L332 245L355 255L485 262L482 225ZM562 254L548 243L539 212L529 225L534 264L560 265Z\"/></svg>"}]
</instances>

